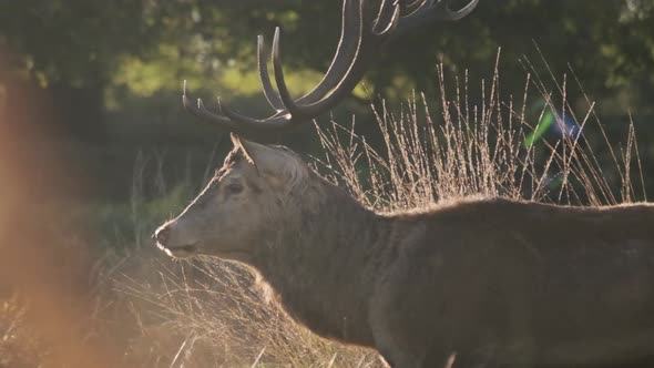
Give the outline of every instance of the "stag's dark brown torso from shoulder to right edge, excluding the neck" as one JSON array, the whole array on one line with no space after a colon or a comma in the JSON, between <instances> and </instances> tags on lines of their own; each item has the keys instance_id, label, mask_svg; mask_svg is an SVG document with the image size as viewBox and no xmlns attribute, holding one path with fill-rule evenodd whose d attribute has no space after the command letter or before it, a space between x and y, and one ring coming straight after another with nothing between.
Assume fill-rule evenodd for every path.
<instances>
[{"instance_id":1,"label":"stag's dark brown torso from shoulder to right edge, excluding the neck","mask_svg":"<svg viewBox=\"0 0 654 368\"><path fill-rule=\"evenodd\" d=\"M398 216L370 300L376 347L398 367L441 367L454 351L454 367L654 352L654 207L486 198Z\"/></svg>"}]
</instances>

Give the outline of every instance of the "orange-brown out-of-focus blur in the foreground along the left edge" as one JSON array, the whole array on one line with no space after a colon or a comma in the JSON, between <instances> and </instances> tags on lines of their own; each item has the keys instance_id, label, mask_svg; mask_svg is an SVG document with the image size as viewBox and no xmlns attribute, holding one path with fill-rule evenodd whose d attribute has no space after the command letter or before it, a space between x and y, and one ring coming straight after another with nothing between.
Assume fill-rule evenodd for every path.
<instances>
[{"instance_id":1,"label":"orange-brown out-of-focus blur in the foreground along the left edge","mask_svg":"<svg viewBox=\"0 0 654 368\"><path fill-rule=\"evenodd\" d=\"M0 299L16 293L28 307L27 327L48 350L43 367L122 367L109 341L85 336L90 252L60 226L81 173L49 139L49 99L8 60L0 50Z\"/></svg>"}]
</instances>

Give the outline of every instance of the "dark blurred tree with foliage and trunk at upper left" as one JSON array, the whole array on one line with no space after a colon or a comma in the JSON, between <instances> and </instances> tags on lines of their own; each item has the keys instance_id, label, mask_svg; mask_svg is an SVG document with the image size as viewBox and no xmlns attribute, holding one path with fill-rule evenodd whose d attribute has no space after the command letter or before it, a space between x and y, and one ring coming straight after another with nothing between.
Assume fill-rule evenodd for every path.
<instances>
[{"instance_id":1,"label":"dark blurred tree with foliage and trunk at upper left","mask_svg":"<svg viewBox=\"0 0 654 368\"><path fill-rule=\"evenodd\" d=\"M69 132L101 135L104 88L119 57L147 47L143 12L130 0L3 1L0 50L18 57L6 62L2 80L37 83Z\"/></svg>"}]
</instances>

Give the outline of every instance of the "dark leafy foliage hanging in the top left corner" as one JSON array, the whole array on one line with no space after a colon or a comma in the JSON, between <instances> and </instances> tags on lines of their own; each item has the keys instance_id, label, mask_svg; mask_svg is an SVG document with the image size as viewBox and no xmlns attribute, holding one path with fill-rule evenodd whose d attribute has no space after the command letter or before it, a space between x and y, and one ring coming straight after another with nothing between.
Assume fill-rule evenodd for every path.
<instances>
[{"instance_id":1,"label":"dark leafy foliage hanging in the top left corner","mask_svg":"<svg viewBox=\"0 0 654 368\"><path fill-rule=\"evenodd\" d=\"M116 57L139 52L149 39L143 3L131 0L25 0L0 6L0 40L22 57L20 65L44 83L98 83Z\"/></svg>"}]
</instances>

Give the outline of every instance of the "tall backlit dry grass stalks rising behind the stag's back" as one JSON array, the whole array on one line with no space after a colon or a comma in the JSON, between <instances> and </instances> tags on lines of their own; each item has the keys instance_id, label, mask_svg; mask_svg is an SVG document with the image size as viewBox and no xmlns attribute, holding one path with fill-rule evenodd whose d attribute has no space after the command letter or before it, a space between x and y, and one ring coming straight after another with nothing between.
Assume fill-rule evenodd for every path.
<instances>
[{"instance_id":1,"label":"tall backlit dry grass stalks rising behind the stag's back","mask_svg":"<svg viewBox=\"0 0 654 368\"><path fill-rule=\"evenodd\" d=\"M440 65L437 115L425 95L413 95L400 113L391 113L384 102L372 106L382 137L377 146L357 136L354 123L344 127L333 122L327 130L318 129L326 156L317 160L317 168L367 206L384 211L467 195L574 205L645 200L633 124L625 124L625 146L615 150L587 95L582 93L584 111L575 112L565 75L561 83L550 75L550 88L524 62L533 73L527 74L518 102L512 95L501 98L499 55L492 80L481 82L482 95L474 103L470 102L468 73L462 81L454 76L452 92L446 88ZM537 90L535 99L530 98L530 90ZM539 100L542 106L530 112ZM559 136L548 135L541 126L546 114L553 116L550 130L560 132ZM595 153L597 140L586 132L600 136L602 152L609 155L602 162L610 166L602 166Z\"/></svg>"}]
</instances>

